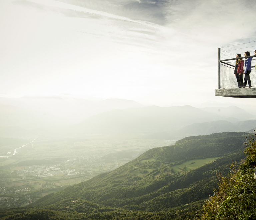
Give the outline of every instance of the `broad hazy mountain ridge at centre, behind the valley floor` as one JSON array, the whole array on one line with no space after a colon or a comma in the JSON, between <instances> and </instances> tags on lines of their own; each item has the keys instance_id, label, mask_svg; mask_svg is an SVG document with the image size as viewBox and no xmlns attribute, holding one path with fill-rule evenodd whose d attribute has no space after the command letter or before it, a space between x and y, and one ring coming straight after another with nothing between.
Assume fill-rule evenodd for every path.
<instances>
[{"instance_id":1,"label":"broad hazy mountain ridge at centre, behind the valley floor","mask_svg":"<svg viewBox=\"0 0 256 220\"><path fill-rule=\"evenodd\" d=\"M75 127L81 132L92 133L157 132L216 118L220 117L192 106L147 106L104 112L85 119Z\"/></svg>"}]
</instances>

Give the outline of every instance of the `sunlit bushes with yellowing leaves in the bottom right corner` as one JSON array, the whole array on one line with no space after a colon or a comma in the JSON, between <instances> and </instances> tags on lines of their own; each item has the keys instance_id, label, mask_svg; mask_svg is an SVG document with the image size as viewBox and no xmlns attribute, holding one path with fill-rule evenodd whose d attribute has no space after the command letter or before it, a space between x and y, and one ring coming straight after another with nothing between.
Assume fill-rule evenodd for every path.
<instances>
[{"instance_id":1,"label":"sunlit bushes with yellowing leaves in the bottom right corner","mask_svg":"<svg viewBox=\"0 0 256 220\"><path fill-rule=\"evenodd\" d=\"M219 189L206 201L202 219L254 220L256 219L256 135L246 144L245 161L239 166L233 162L228 177L219 175Z\"/></svg>"}]
</instances>

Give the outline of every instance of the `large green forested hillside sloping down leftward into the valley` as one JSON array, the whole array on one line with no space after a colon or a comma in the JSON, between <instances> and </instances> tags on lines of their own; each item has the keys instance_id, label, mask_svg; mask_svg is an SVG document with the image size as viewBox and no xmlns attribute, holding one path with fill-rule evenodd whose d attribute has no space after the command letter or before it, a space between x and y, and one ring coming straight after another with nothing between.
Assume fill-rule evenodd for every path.
<instances>
[{"instance_id":1,"label":"large green forested hillside sloping down leftward into the valley","mask_svg":"<svg viewBox=\"0 0 256 220\"><path fill-rule=\"evenodd\" d=\"M152 213L156 219L161 215L166 216L162 219L196 219L202 201L218 187L216 173L227 175L230 170L227 164L244 158L245 135L227 132L187 137L174 146L151 149L112 172L45 196L26 211L98 213L98 219L118 219L106 217L107 213L116 215L117 212L130 213L127 219ZM206 157L220 158L194 170L184 167L175 173L172 169L177 164L182 167L188 160Z\"/></svg>"}]
</instances>

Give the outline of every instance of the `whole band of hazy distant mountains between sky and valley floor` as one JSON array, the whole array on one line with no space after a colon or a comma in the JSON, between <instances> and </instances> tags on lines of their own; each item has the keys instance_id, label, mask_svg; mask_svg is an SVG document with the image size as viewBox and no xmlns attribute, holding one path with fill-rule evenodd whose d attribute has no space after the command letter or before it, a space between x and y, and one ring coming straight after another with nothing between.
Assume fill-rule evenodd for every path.
<instances>
[{"instance_id":1,"label":"whole band of hazy distant mountains between sky and valley floor","mask_svg":"<svg viewBox=\"0 0 256 220\"><path fill-rule=\"evenodd\" d=\"M14 138L52 134L65 134L70 138L89 134L156 137L165 133L166 138L175 139L188 135L189 129L194 130L191 133L194 135L249 131L255 127L253 120L256 119L236 106L159 107L143 106L132 100L62 97L2 98L0 101L1 136ZM201 127L201 133L194 127Z\"/></svg>"}]
</instances>

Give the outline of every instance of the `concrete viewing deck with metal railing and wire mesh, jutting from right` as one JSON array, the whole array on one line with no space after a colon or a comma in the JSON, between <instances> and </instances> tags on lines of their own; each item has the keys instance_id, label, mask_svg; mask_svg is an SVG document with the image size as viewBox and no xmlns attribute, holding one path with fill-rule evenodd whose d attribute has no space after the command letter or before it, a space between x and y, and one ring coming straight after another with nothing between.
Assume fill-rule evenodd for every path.
<instances>
[{"instance_id":1,"label":"concrete viewing deck with metal railing and wire mesh, jutting from right","mask_svg":"<svg viewBox=\"0 0 256 220\"><path fill-rule=\"evenodd\" d=\"M236 46L236 45L235 45ZM239 44L241 47L241 45ZM253 49L253 50L252 50ZM218 48L218 89L215 89L216 96L233 97L233 98L256 98L256 70L255 62L256 55L254 55L256 46L253 47L242 47L232 50L223 50ZM240 51L240 53L239 53ZM243 52L242 52L243 51ZM249 51L252 56L244 56L244 52ZM222 54L222 55L221 55ZM242 57L239 59L245 60L246 58L252 57L251 61L251 88L247 83L245 88L239 88L237 78L234 74L236 66L236 54L241 54ZM228 56L229 59L221 59L221 57ZM233 58L232 58L233 57ZM243 82L244 82L243 74Z\"/></svg>"}]
</instances>

